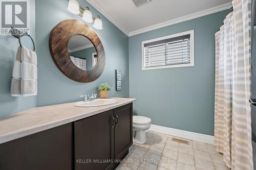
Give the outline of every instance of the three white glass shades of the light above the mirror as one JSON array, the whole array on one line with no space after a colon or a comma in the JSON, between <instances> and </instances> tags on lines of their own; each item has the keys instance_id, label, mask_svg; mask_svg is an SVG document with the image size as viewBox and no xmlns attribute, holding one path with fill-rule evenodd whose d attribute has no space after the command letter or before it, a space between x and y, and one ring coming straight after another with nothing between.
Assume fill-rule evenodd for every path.
<instances>
[{"instance_id":1,"label":"three white glass shades of the light above the mirror","mask_svg":"<svg viewBox=\"0 0 256 170\"><path fill-rule=\"evenodd\" d=\"M103 29L102 28L102 20L100 19L99 16L96 16L94 18L89 7L82 9L76 0L68 0L68 1L69 1L69 5L68 5L67 10L69 12L81 16L82 20L84 20L87 23L92 23L94 20L93 27L97 30Z\"/></svg>"}]
</instances>

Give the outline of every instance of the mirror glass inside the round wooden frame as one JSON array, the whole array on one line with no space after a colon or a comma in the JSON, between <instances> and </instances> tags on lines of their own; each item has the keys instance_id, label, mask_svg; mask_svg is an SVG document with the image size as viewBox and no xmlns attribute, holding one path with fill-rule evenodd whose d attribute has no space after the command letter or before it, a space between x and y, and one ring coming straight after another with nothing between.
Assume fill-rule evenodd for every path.
<instances>
[{"instance_id":1,"label":"mirror glass inside the round wooden frame","mask_svg":"<svg viewBox=\"0 0 256 170\"><path fill-rule=\"evenodd\" d=\"M92 70L98 61L93 43L86 36L73 35L68 42L71 61L82 70Z\"/></svg>"}]
</instances>

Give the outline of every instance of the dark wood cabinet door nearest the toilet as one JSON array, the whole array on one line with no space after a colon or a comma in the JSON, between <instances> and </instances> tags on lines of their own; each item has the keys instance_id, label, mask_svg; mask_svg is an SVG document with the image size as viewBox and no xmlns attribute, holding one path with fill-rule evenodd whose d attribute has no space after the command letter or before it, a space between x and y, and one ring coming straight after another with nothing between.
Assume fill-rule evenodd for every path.
<instances>
[{"instance_id":1,"label":"dark wood cabinet door nearest the toilet","mask_svg":"<svg viewBox=\"0 0 256 170\"><path fill-rule=\"evenodd\" d=\"M115 109L115 159L122 159L133 144L133 104Z\"/></svg>"}]
</instances>

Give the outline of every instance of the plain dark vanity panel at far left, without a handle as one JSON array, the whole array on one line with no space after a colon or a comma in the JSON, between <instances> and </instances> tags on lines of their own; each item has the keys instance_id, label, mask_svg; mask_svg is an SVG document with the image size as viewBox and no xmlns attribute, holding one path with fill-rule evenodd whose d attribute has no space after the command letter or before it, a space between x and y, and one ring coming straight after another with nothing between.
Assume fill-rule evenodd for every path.
<instances>
[{"instance_id":1,"label":"plain dark vanity panel at far left, without a handle","mask_svg":"<svg viewBox=\"0 0 256 170\"><path fill-rule=\"evenodd\" d=\"M0 169L73 169L73 124L0 144Z\"/></svg>"}]
</instances>

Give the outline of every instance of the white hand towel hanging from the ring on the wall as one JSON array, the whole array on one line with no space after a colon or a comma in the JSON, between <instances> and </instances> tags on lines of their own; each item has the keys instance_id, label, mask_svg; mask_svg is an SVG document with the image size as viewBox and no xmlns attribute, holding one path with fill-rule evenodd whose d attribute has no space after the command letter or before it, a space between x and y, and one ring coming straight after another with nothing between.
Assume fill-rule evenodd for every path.
<instances>
[{"instance_id":1,"label":"white hand towel hanging from the ring on the wall","mask_svg":"<svg viewBox=\"0 0 256 170\"><path fill-rule=\"evenodd\" d=\"M37 94L36 65L36 53L24 46L19 46L14 60L12 73L12 96L30 96Z\"/></svg>"}]
</instances>

